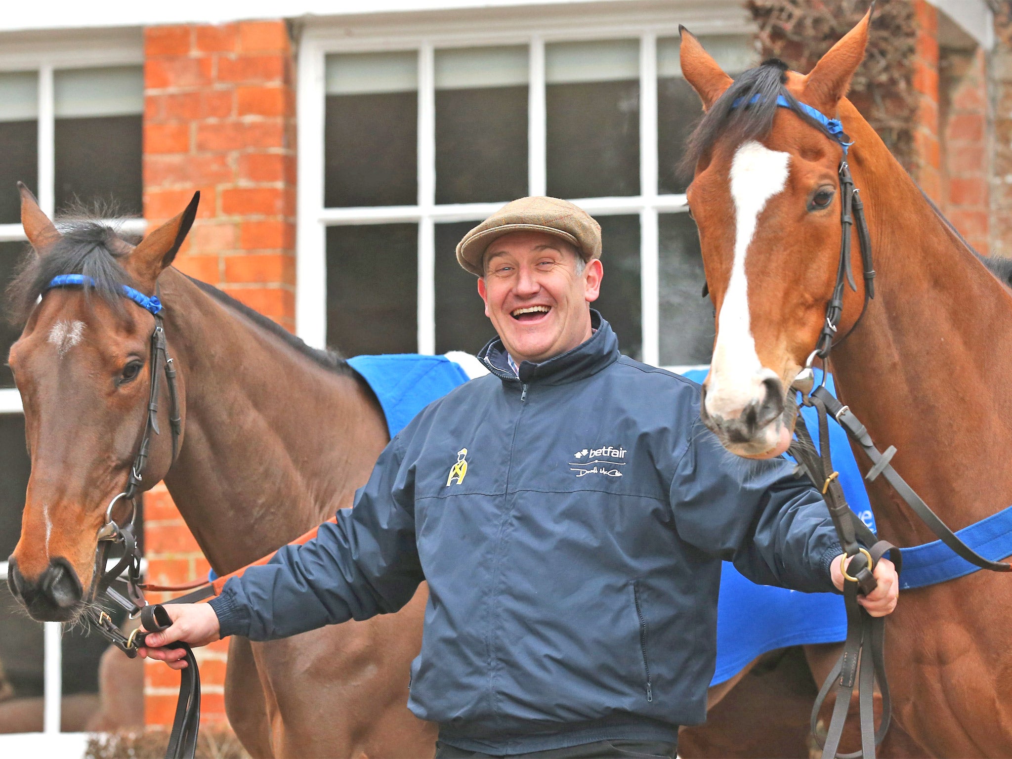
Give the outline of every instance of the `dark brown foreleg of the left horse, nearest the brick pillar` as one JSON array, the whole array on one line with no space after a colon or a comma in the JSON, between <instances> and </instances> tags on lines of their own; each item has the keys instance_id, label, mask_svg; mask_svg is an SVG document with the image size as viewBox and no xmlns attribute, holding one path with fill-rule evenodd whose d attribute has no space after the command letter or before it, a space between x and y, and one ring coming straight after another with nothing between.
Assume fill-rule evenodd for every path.
<instances>
[{"instance_id":1,"label":"dark brown foreleg of the left horse, nearest the brick pillar","mask_svg":"<svg viewBox=\"0 0 1012 759\"><path fill-rule=\"evenodd\" d=\"M229 667L225 673L225 713L236 738L256 759L272 759L270 715L253 647L246 638L229 642Z\"/></svg>"}]
</instances>

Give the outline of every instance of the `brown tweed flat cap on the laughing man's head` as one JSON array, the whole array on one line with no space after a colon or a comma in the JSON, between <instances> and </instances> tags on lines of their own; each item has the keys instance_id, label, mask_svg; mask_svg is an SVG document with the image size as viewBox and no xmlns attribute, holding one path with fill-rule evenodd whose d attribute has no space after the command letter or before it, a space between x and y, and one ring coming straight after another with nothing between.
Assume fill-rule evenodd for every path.
<instances>
[{"instance_id":1,"label":"brown tweed flat cap on the laughing man's head","mask_svg":"<svg viewBox=\"0 0 1012 759\"><path fill-rule=\"evenodd\" d=\"M558 197L521 197L506 203L471 232L456 246L456 260L472 274L482 276L482 256L488 247L510 232L546 232L561 237L583 256L601 257L601 225L583 208Z\"/></svg>"}]
</instances>

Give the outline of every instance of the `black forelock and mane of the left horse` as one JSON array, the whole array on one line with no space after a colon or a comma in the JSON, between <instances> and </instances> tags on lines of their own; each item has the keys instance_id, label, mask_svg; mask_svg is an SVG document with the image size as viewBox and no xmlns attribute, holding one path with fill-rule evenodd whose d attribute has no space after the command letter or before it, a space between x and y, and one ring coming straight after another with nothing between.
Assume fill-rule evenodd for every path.
<instances>
[{"instance_id":1,"label":"black forelock and mane of the left horse","mask_svg":"<svg viewBox=\"0 0 1012 759\"><path fill-rule=\"evenodd\" d=\"M55 276L61 274L84 274L94 280L94 285L82 285L86 296L99 296L119 313L124 313L126 300L120 286L137 287L130 274L120 264L130 250L121 245L120 236L114 223L82 219L60 223L61 239L45 256L29 252L20 272L7 288L11 322L24 324L38 298L49 288ZM137 242L132 240L131 242ZM243 315L260 329L282 340L286 345L312 359L324 368L338 373L353 374L353 369L339 354L329 350L311 348L277 323L263 314L236 301L217 287L187 277L203 292Z\"/></svg>"}]
</instances>

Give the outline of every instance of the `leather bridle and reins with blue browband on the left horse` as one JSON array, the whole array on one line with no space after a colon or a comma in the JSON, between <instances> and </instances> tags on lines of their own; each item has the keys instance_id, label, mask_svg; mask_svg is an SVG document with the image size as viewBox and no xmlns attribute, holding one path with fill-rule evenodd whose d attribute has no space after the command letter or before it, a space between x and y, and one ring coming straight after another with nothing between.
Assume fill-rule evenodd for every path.
<instances>
[{"instance_id":1,"label":"leather bridle and reins with blue browband on the left horse","mask_svg":"<svg viewBox=\"0 0 1012 759\"><path fill-rule=\"evenodd\" d=\"M94 286L95 281L83 274L63 274L50 281L47 289L67 286ZM144 646L146 632L140 628L124 636L112 618L97 603L99 597L112 601L121 607L131 618L141 615L141 623L151 632L166 629L172 620L161 605L151 605L144 597L145 585L141 582L141 547L137 539L137 497L142 490L145 468L151 448L152 434L160 435L158 424L158 404L161 394L161 376L169 394L169 428L172 435L172 461L179 453L179 437L182 434L182 418L179 409L179 389L176 369L169 356L162 322L162 304L157 297L148 297L125 284L120 285L120 294L150 312L155 318L155 329L150 339L151 385L148 394L148 413L144 432L137 454L134 456L126 489L116 495L105 508L105 523L98 530L98 545L95 549L95 566L92 574L91 592L84 615L91 625L113 646L131 659L137 657L137 650ZM130 504L130 518L122 524L113 516L119 501ZM122 556L111 569L106 570L106 560L114 545L122 545ZM125 584L124 593L112 587L115 582ZM200 673L190 647L184 643L170 644L166 648L183 649L186 668L180 670L179 699L169 735L166 759L192 759L196 752L196 738L200 722Z\"/></svg>"}]
</instances>

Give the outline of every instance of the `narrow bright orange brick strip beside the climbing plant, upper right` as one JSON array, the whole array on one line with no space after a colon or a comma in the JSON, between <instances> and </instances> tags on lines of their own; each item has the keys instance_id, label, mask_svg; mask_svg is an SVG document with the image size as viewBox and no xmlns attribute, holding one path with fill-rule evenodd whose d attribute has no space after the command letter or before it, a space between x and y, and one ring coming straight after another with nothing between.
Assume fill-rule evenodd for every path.
<instances>
[{"instance_id":1,"label":"narrow bright orange brick strip beside the climbing plant, upper right","mask_svg":"<svg viewBox=\"0 0 1012 759\"><path fill-rule=\"evenodd\" d=\"M914 0L917 37L914 89L920 96L914 124L914 178L935 202L942 198L942 161L938 114L938 10Z\"/></svg>"}]
</instances>

